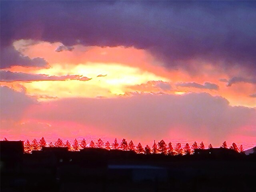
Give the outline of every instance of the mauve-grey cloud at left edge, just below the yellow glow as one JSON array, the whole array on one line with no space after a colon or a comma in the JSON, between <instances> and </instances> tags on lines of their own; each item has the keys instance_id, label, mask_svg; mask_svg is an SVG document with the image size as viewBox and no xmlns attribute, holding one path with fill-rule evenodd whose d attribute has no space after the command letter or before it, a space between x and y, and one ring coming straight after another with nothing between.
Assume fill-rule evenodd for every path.
<instances>
[{"instance_id":1,"label":"mauve-grey cloud at left edge, just below the yellow glow","mask_svg":"<svg viewBox=\"0 0 256 192\"><path fill-rule=\"evenodd\" d=\"M36 100L25 92L16 92L6 86L0 87L0 96L1 120L20 120L26 108L36 104Z\"/></svg>"}]
</instances>

